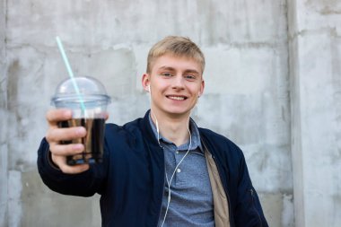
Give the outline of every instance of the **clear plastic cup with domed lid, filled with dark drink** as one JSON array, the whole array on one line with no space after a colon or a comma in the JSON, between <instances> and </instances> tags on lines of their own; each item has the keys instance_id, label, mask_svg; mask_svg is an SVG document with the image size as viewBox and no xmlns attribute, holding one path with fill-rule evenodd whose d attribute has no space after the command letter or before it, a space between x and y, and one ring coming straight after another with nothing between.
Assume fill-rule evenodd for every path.
<instances>
[{"instance_id":1,"label":"clear plastic cup with domed lid, filled with dark drink","mask_svg":"<svg viewBox=\"0 0 341 227\"><path fill-rule=\"evenodd\" d=\"M74 81L73 81L74 80ZM79 92L74 89L77 84ZM86 135L62 144L83 144L83 153L67 156L68 165L98 163L103 159L104 128L110 97L104 86L89 76L69 78L58 84L51 104L57 109L71 109L72 119L61 121L58 127L85 127Z\"/></svg>"}]
</instances>

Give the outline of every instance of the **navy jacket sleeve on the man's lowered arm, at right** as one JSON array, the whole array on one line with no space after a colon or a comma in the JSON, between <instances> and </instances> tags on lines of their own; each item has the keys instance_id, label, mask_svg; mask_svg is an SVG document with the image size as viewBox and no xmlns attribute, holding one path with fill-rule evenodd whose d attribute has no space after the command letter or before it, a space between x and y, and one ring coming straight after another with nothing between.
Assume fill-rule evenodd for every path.
<instances>
[{"instance_id":1,"label":"navy jacket sleeve on the man's lowered arm, at right","mask_svg":"<svg viewBox=\"0 0 341 227\"><path fill-rule=\"evenodd\" d=\"M240 227L267 227L267 220L263 214L257 192L252 186L248 167L241 151L240 155L238 203L235 213L236 225Z\"/></svg>"}]
</instances>

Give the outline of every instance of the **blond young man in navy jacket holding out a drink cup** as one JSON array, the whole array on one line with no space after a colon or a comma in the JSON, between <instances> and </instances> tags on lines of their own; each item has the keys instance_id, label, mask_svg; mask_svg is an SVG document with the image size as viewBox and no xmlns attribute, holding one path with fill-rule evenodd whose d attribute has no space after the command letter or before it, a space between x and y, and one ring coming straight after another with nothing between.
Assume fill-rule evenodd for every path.
<instances>
[{"instance_id":1,"label":"blond young man in navy jacket holding out a drink cup","mask_svg":"<svg viewBox=\"0 0 341 227\"><path fill-rule=\"evenodd\" d=\"M240 148L189 117L204 92L205 58L190 39L166 37L148 55L142 84L151 109L107 124L101 164L68 166L83 127L58 128L71 111L48 111L39 174L66 195L101 195L102 226L267 226Z\"/></svg>"}]
</instances>

